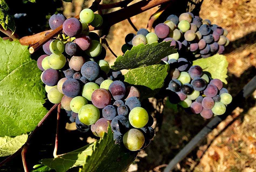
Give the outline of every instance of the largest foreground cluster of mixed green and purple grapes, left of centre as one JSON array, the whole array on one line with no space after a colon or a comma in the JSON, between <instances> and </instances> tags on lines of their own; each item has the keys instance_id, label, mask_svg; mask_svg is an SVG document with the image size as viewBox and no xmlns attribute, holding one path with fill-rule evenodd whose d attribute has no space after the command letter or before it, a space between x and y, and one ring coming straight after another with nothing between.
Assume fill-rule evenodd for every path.
<instances>
[{"instance_id":1,"label":"largest foreground cluster of mixed green and purple grapes, left of centre","mask_svg":"<svg viewBox=\"0 0 256 172\"><path fill-rule=\"evenodd\" d=\"M52 29L63 25L65 37L74 39L65 43L53 39L43 45L46 55L38 58L37 66L43 71L47 97L51 103L61 103L78 131L91 129L95 136L103 137L110 125L117 144L132 151L143 149L155 134L153 117L141 107L137 88L113 81L122 73L109 72L108 62L103 60L106 50L88 28L88 23L101 26L102 17L84 9L80 19L56 14L49 20Z\"/></svg>"}]
</instances>

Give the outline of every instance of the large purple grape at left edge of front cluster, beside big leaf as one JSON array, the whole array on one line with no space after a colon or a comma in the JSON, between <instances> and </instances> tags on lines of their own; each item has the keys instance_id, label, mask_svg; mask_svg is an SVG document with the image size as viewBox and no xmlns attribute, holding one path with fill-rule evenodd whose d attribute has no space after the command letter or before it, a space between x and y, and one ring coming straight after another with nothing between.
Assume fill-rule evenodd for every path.
<instances>
[{"instance_id":1,"label":"large purple grape at left edge of front cluster, beside big leaf","mask_svg":"<svg viewBox=\"0 0 256 172\"><path fill-rule=\"evenodd\" d=\"M42 81L45 85L54 86L54 85L57 85L59 81L59 77L60 77L59 71L50 68L50 69L46 69L43 72Z\"/></svg>"}]
</instances>

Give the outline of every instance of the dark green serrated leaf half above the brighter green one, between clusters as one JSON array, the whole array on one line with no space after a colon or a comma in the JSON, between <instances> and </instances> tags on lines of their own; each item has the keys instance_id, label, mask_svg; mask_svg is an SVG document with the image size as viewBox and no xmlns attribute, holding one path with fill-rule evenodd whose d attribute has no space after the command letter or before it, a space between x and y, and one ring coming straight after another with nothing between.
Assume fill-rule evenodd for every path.
<instances>
[{"instance_id":1,"label":"dark green serrated leaf half above the brighter green one, between clusters","mask_svg":"<svg viewBox=\"0 0 256 172\"><path fill-rule=\"evenodd\" d=\"M170 46L171 41L153 42L144 45L143 43L133 46L131 50L127 50L124 56L118 56L111 69L133 69L136 67L149 66L159 62L162 58L176 53L174 46Z\"/></svg>"}]
</instances>

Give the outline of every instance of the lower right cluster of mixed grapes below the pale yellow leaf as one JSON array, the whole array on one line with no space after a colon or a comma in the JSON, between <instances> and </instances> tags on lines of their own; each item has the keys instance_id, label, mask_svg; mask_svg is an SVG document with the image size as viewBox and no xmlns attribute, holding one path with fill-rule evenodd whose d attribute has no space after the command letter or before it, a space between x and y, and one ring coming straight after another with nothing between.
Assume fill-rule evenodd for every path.
<instances>
[{"instance_id":1,"label":"lower right cluster of mixed grapes below the pale yellow leaf","mask_svg":"<svg viewBox=\"0 0 256 172\"><path fill-rule=\"evenodd\" d=\"M232 96L221 80L211 79L200 66L191 66L184 58L170 59L168 63L171 81L167 89L171 103L178 103L187 112L200 113L205 119L225 113Z\"/></svg>"}]
</instances>

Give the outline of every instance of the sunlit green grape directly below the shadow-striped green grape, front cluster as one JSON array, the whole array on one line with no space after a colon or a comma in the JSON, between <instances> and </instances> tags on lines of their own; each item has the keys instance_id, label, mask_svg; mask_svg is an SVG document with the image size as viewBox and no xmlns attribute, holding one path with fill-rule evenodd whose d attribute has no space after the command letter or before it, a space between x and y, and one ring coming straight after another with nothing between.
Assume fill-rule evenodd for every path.
<instances>
[{"instance_id":1,"label":"sunlit green grape directly below the shadow-striped green grape, front cluster","mask_svg":"<svg viewBox=\"0 0 256 172\"><path fill-rule=\"evenodd\" d=\"M52 53L48 58L48 64L52 69L58 70L65 66L66 58L63 54L57 55Z\"/></svg>"}]
</instances>

